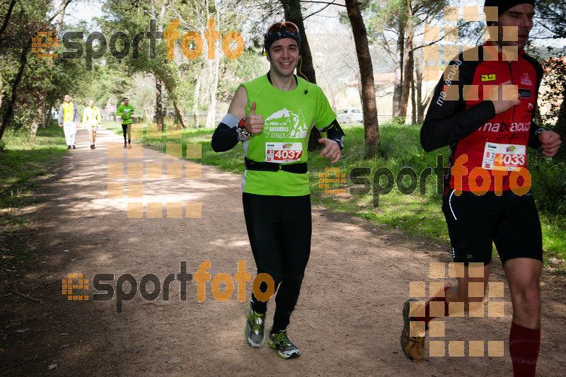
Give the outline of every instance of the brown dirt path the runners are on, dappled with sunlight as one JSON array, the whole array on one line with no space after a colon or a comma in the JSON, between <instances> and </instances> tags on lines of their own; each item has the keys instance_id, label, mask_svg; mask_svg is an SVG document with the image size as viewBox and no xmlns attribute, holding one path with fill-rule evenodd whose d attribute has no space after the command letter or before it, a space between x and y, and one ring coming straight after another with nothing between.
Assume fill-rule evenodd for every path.
<instances>
[{"instance_id":1,"label":"brown dirt path the runners are on, dappled with sunlight","mask_svg":"<svg viewBox=\"0 0 566 377\"><path fill-rule=\"evenodd\" d=\"M446 356L427 356L424 363L412 364L400 352L400 309L409 298L410 281L443 281L429 278L428 266L429 262L450 262L447 246L438 248L424 238L376 229L320 207L313 207L311 260L289 327L291 340L301 349L299 359L279 359L267 346L248 347L243 340L247 302L238 301L237 289L231 299L220 302L207 282L206 299L198 302L197 284L188 282L187 300L180 301L175 281L169 301L163 301L163 292L157 301L145 301L138 292L132 301L123 303L121 314L116 313L115 297L108 302L92 301L92 278L98 273L115 274L115 280L129 273L138 283L144 274L153 273L163 282L168 274L179 272L181 261L194 274L209 260L207 272L212 278L220 272L233 278L238 261L244 260L246 272L255 276L243 225L239 175L203 166L201 179L147 179L148 163L188 162L166 159L163 153L149 149L143 149L141 159L109 159L108 143L120 142L120 137L101 130L97 149L92 151L86 131L79 130L79 148L69 151L63 166L42 187L41 203L25 209L25 216L33 219L32 227L37 229L33 245L41 253L29 269L0 274L1 374L511 375L507 340L512 309L507 284L504 298L486 300L504 302L503 318L487 318L486 304L485 318L447 319L445 336L432 338L444 341ZM142 163L144 178L109 179L108 163ZM128 199L124 192L122 199L109 199L109 182L142 182L144 197ZM129 219L127 202L201 202L202 218ZM492 282L504 281L498 263L493 269ZM88 301L67 301L62 295L62 279L69 273L90 279ZM550 275L543 282L538 375L564 376L566 282ZM125 288L127 291L127 284ZM248 282L246 298L251 288ZM272 313L270 303L268 324ZM469 340L483 340L485 356L467 356ZM451 352L465 352L466 356L449 356L449 342L454 341L463 343L451 343ZM488 356L488 341L503 341L504 356ZM462 344L463 351L458 349Z\"/></svg>"}]
</instances>

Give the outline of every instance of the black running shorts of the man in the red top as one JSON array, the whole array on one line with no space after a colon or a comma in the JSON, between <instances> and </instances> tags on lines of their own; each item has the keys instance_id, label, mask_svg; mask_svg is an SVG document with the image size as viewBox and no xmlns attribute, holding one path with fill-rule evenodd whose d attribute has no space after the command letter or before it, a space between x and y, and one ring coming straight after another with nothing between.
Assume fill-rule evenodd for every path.
<instances>
[{"instance_id":1,"label":"black running shorts of the man in the red top","mask_svg":"<svg viewBox=\"0 0 566 377\"><path fill-rule=\"evenodd\" d=\"M541 221L531 192L516 195L504 191L475 195L450 190L442 211L448 224L454 262L491 261L492 242L504 264L518 257L543 260Z\"/></svg>"}]
</instances>

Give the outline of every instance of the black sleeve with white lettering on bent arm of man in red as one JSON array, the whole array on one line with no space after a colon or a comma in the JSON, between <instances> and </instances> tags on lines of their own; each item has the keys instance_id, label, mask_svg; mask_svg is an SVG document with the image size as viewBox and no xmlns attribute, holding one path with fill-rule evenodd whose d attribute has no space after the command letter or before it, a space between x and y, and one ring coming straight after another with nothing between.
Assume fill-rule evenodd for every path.
<instances>
[{"instance_id":1,"label":"black sleeve with white lettering on bent arm of man in red","mask_svg":"<svg viewBox=\"0 0 566 377\"><path fill-rule=\"evenodd\" d=\"M425 151L433 151L441 146L451 145L456 141L467 137L482 124L495 117L495 108L490 100L484 100L477 105L466 109L463 98L463 86L471 84L472 79L467 77L473 74L475 67L466 65L461 57L451 66L461 62L459 68L459 80L445 81L440 79L434 89L427 117L424 119L420 130L420 144ZM444 86L458 86L458 100L446 99ZM454 89L451 89L454 90Z\"/></svg>"}]
</instances>

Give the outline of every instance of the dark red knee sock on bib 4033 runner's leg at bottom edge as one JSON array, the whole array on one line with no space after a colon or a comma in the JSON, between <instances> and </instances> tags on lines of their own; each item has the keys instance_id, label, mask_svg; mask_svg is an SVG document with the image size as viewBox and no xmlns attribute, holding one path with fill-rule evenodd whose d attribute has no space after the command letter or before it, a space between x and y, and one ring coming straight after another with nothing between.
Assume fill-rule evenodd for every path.
<instances>
[{"instance_id":1,"label":"dark red knee sock on bib 4033 runner's leg at bottom edge","mask_svg":"<svg viewBox=\"0 0 566 377\"><path fill-rule=\"evenodd\" d=\"M529 329L516 323L509 332L509 353L514 377L534 376L538 349L541 348L541 329Z\"/></svg>"}]
</instances>

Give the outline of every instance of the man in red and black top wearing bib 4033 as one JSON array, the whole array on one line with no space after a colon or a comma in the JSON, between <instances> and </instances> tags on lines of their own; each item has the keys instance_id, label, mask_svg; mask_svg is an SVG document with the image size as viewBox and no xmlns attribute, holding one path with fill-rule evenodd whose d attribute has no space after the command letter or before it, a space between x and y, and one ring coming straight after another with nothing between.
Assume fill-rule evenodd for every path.
<instances>
[{"instance_id":1,"label":"man in red and black top wearing bib 4033","mask_svg":"<svg viewBox=\"0 0 566 377\"><path fill-rule=\"evenodd\" d=\"M449 310L448 303L483 310L493 242L512 295L514 375L534 376L541 344L542 235L526 179L526 147L543 146L543 154L552 157L560 137L532 122L542 69L523 49L533 26L534 1L487 0L488 20L492 6L498 18L488 25L497 26L498 35L449 64L421 129L426 151L451 149L442 209L454 262L461 262L458 285L446 286L424 306L415 299L405 302L401 345L409 359L420 362L429 321L454 314L458 307ZM515 38L507 37L512 29Z\"/></svg>"}]
</instances>

